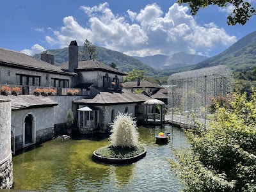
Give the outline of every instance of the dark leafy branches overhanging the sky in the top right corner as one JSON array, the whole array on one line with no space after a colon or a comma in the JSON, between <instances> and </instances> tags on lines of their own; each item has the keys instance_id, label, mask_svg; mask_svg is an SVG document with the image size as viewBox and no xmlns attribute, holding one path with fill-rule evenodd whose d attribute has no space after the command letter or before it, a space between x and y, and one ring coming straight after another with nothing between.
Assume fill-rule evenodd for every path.
<instances>
[{"instance_id":1,"label":"dark leafy branches overhanging the sky in the top right corner","mask_svg":"<svg viewBox=\"0 0 256 192\"><path fill-rule=\"evenodd\" d=\"M225 7L228 4L232 4L234 6L234 11L228 15L227 23L228 25L236 25L241 24L244 25L246 22L255 15L255 9L252 6L252 1L248 2L245 0L178 0L178 3L188 3L191 8L191 14L196 15L200 8L205 8L209 5L217 5L220 7Z\"/></svg>"}]
</instances>

